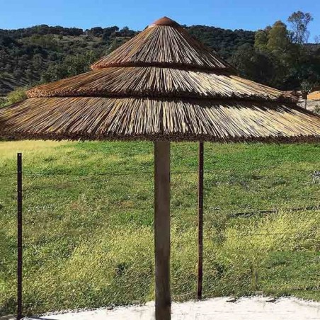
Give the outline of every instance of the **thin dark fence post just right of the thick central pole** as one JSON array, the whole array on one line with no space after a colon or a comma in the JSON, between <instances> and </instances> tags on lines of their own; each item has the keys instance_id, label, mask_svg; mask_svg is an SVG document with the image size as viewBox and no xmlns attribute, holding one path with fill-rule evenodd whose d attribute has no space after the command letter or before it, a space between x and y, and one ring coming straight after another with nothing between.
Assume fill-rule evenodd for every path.
<instances>
[{"instance_id":1,"label":"thin dark fence post just right of the thick central pole","mask_svg":"<svg viewBox=\"0 0 320 320\"><path fill-rule=\"evenodd\" d=\"M198 168L198 290L197 297L202 299L202 259L203 259L203 142L199 142Z\"/></svg>"}]
</instances>

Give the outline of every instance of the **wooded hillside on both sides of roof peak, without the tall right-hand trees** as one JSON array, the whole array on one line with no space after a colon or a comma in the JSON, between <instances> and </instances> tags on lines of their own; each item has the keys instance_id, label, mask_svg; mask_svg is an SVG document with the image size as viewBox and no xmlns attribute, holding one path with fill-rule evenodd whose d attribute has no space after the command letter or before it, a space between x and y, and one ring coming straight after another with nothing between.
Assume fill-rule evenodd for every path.
<instances>
[{"instance_id":1,"label":"wooded hillside on both sides of roof peak, without the tall right-hand trees","mask_svg":"<svg viewBox=\"0 0 320 320\"><path fill-rule=\"evenodd\" d=\"M186 28L225 59L229 59L240 45L253 45L254 41L251 31L224 30L204 25ZM84 72L90 62L118 47L137 32L117 26L82 30L37 25L18 30L0 30L0 96L19 86ZM86 57L88 64L74 60L69 63L74 56L78 56L80 62ZM76 64L75 70L68 72L58 67L66 60L69 68Z\"/></svg>"}]
</instances>

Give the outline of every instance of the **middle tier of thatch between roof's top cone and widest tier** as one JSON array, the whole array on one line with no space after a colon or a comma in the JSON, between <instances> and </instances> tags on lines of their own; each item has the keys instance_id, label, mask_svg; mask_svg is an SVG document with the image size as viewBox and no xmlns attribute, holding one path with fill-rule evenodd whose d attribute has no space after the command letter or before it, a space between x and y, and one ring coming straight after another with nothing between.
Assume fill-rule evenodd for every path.
<instances>
[{"instance_id":1,"label":"middle tier of thatch between roof's top cone and widest tier","mask_svg":"<svg viewBox=\"0 0 320 320\"><path fill-rule=\"evenodd\" d=\"M161 67L108 67L28 91L28 97L136 96L149 98L237 98L292 101L263 84L229 72L204 72Z\"/></svg>"}]
</instances>

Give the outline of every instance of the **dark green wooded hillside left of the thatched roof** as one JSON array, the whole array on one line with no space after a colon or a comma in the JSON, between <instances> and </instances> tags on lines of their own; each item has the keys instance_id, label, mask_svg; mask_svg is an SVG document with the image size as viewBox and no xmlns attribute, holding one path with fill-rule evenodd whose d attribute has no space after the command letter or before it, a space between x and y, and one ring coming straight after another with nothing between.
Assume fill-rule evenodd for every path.
<instances>
[{"instance_id":1,"label":"dark green wooded hillside left of the thatched roof","mask_svg":"<svg viewBox=\"0 0 320 320\"><path fill-rule=\"evenodd\" d=\"M37 25L0 30L0 95L16 87L86 72L114 43L136 32L125 27L62 28Z\"/></svg>"}]
</instances>

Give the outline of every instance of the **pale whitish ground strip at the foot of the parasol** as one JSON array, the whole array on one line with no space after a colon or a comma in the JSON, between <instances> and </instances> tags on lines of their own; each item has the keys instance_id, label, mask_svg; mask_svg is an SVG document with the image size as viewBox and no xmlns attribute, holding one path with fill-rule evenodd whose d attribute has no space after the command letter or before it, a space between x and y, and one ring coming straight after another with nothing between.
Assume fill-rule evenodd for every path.
<instances>
[{"instance_id":1,"label":"pale whitish ground strip at the foot of the parasol","mask_svg":"<svg viewBox=\"0 0 320 320\"><path fill-rule=\"evenodd\" d=\"M47 320L151 320L154 302L142 306L115 307L25 318ZM228 297L201 302L173 303L172 320L309 320L320 319L320 302L282 297Z\"/></svg>"}]
</instances>

